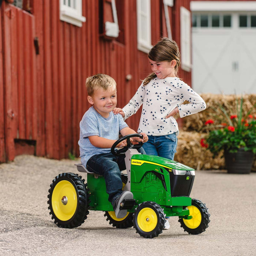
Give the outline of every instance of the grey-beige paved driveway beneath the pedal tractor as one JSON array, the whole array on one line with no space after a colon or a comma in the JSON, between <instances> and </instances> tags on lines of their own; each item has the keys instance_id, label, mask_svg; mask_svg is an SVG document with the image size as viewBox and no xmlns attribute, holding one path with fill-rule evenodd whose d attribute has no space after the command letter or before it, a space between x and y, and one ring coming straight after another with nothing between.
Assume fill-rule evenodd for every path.
<instances>
[{"instance_id":1,"label":"grey-beige paved driveway beneath the pedal tractor","mask_svg":"<svg viewBox=\"0 0 256 256\"><path fill-rule=\"evenodd\" d=\"M256 254L256 173L197 171L191 196L209 208L206 231L188 235L172 217L169 230L145 239L133 228L110 226L103 212L90 211L76 229L53 223L47 205L49 185L59 173L77 173L76 162L19 156L0 165L0 255Z\"/></svg>"}]
</instances>

